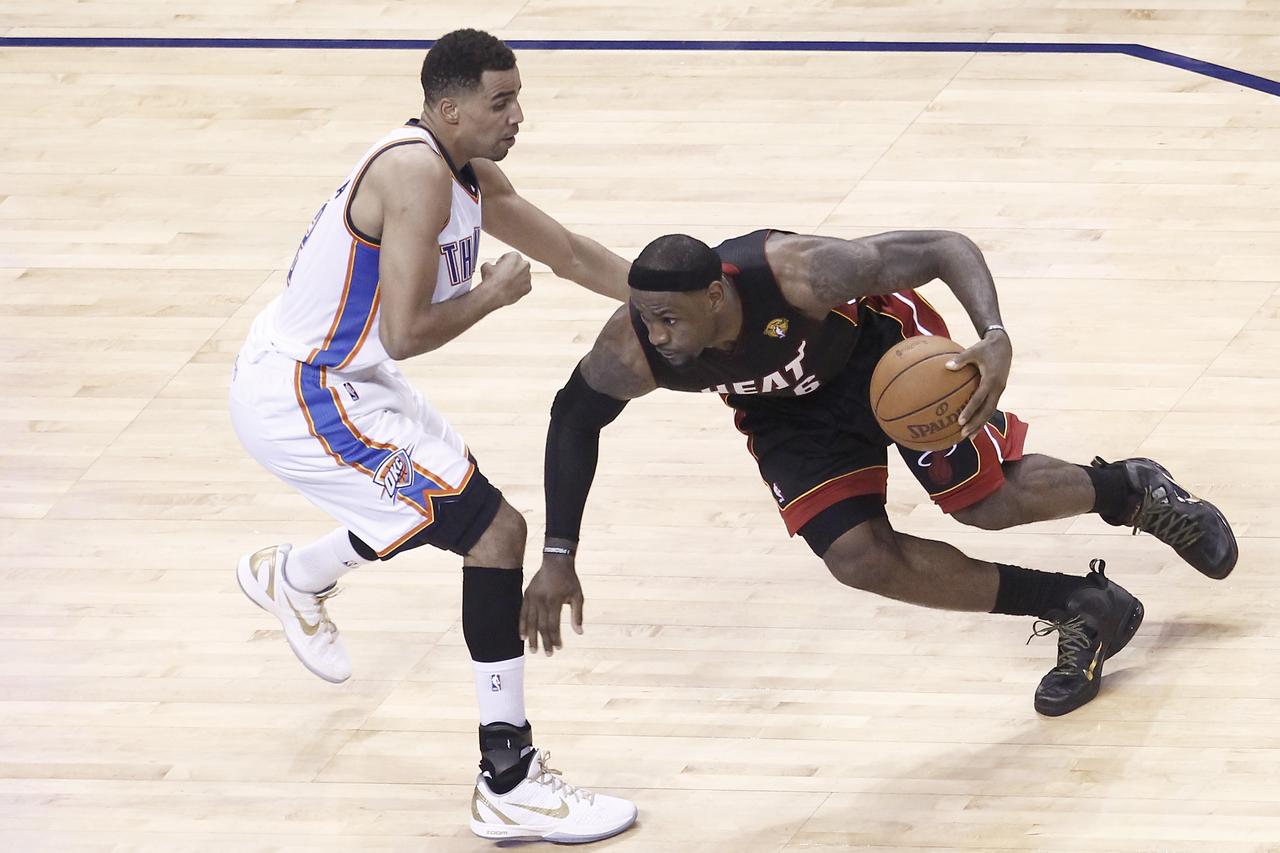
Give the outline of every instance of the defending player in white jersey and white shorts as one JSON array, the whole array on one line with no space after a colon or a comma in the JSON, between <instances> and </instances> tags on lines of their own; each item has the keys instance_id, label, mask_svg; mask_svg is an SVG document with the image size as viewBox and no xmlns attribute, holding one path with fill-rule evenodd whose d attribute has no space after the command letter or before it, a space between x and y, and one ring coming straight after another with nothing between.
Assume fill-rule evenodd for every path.
<instances>
[{"instance_id":1,"label":"defending player in white jersey and white shorts","mask_svg":"<svg viewBox=\"0 0 1280 853\"><path fill-rule=\"evenodd\" d=\"M518 633L525 521L394 365L530 291L517 252L477 270L481 231L626 298L627 261L521 199L494 165L524 120L520 86L499 40L442 37L422 64L421 117L374 145L320 207L284 292L253 321L232 379L236 432L340 526L242 557L237 579L303 666L340 683L351 660L325 606L337 580L422 544L461 555L481 724L471 829L591 841L625 830L636 808L564 784L532 747Z\"/></svg>"}]
</instances>

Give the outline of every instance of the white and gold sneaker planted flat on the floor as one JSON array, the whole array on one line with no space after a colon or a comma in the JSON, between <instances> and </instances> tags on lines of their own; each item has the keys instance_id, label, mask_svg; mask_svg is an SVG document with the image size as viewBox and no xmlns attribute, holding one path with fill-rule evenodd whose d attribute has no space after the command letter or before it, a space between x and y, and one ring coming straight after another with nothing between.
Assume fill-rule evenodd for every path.
<instances>
[{"instance_id":1,"label":"white and gold sneaker planted flat on the floor","mask_svg":"<svg viewBox=\"0 0 1280 853\"><path fill-rule=\"evenodd\" d=\"M550 752L529 762L529 775L506 794L490 790L484 774L471 795L471 831L493 840L544 839L559 844L599 841L636 820L635 803L575 788L547 766Z\"/></svg>"}]
</instances>

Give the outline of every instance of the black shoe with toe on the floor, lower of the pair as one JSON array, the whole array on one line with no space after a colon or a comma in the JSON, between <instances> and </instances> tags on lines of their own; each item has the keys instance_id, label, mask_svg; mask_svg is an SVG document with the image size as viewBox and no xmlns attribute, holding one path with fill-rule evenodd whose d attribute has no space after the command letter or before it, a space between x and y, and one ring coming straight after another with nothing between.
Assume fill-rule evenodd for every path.
<instances>
[{"instance_id":1,"label":"black shoe with toe on the floor, lower of the pair","mask_svg":"<svg viewBox=\"0 0 1280 853\"><path fill-rule=\"evenodd\" d=\"M1098 694L1102 663L1128 646L1142 625L1142 602L1103 574L1106 562L1089 562L1085 585L1071 593L1066 608L1036 622L1032 637L1057 631L1057 666L1036 688L1036 710L1048 717L1070 713ZM1027 640L1030 642L1030 638Z\"/></svg>"}]
</instances>

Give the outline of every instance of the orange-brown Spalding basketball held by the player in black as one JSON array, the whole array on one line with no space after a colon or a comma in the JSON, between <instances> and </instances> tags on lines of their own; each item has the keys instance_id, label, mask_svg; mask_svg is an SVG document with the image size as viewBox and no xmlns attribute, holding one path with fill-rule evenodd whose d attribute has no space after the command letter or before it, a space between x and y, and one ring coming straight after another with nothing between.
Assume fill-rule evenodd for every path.
<instances>
[{"instance_id":1,"label":"orange-brown Spalding basketball held by the player in black","mask_svg":"<svg viewBox=\"0 0 1280 853\"><path fill-rule=\"evenodd\" d=\"M947 360L961 350L951 338L920 336L881 356L872 373L872 410L890 438L922 451L960 441L960 411L980 378L973 365L947 370Z\"/></svg>"}]
</instances>

